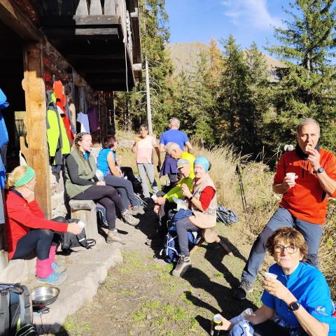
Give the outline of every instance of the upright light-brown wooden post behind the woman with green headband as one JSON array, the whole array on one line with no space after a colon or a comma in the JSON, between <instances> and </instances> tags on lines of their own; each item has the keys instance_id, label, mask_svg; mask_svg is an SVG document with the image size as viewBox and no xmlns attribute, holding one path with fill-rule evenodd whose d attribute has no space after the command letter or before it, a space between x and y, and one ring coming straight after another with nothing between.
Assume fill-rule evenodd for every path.
<instances>
[{"instance_id":1,"label":"upright light-brown wooden post behind the woman with green headband","mask_svg":"<svg viewBox=\"0 0 336 336\"><path fill-rule=\"evenodd\" d=\"M43 45L27 43L24 48L25 90L27 128L27 164L35 169L37 183L35 197L45 217L51 215L49 153L47 143L45 84L43 72Z\"/></svg>"}]
</instances>

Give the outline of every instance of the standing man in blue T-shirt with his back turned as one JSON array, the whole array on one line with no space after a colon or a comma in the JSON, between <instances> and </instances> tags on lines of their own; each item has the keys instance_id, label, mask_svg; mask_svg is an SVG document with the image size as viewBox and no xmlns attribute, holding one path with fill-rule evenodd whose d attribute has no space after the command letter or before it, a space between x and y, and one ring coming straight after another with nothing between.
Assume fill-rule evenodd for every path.
<instances>
[{"instance_id":1,"label":"standing man in blue T-shirt with his back turned","mask_svg":"<svg viewBox=\"0 0 336 336\"><path fill-rule=\"evenodd\" d=\"M169 142L174 142L178 144L181 151L184 151L184 146L187 146L188 152L193 149L191 146L188 136L186 133L179 130L180 121L177 118L172 118L169 120L169 130L163 132L160 137L160 151L165 151L165 146ZM179 172L176 168L176 160L171 156L166 154L165 162L163 162L160 176L168 175L170 185L173 186L176 181L179 180Z\"/></svg>"}]
</instances>

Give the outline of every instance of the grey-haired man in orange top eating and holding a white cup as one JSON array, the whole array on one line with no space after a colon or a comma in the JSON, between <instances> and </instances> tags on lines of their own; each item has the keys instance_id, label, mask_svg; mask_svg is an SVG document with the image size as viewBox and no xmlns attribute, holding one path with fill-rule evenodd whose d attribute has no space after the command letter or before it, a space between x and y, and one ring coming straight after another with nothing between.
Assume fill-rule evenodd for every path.
<instances>
[{"instance_id":1,"label":"grey-haired man in orange top eating and holding a white cup","mask_svg":"<svg viewBox=\"0 0 336 336\"><path fill-rule=\"evenodd\" d=\"M316 120L304 118L297 126L295 150L284 153L279 160L273 191L281 194L282 200L251 248L240 286L235 290L238 300L244 300L253 290L265 258L267 239L283 226L296 228L304 235L309 248L307 262L317 267L328 196L336 196L336 158L318 146L319 137L320 126Z\"/></svg>"}]
</instances>

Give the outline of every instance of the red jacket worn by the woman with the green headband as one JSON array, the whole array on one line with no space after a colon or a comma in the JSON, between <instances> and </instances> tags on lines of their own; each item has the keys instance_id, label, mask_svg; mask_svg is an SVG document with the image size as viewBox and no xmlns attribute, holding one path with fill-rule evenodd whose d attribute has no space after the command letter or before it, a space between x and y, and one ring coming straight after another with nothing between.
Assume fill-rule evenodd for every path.
<instances>
[{"instance_id":1,"label":"red jacket worn by the woman with the green headband","mask_svg":"<svg viewBox=\"0 0 336 336\"><path fill-rule=\"evenodd\" d=\"M6 194L8 258L13 258L18 241L31 229L48 229L66 232L68 225L48 221L36 200L27 202L23 197L9 191Z\"/></svg>"}]
</instances>

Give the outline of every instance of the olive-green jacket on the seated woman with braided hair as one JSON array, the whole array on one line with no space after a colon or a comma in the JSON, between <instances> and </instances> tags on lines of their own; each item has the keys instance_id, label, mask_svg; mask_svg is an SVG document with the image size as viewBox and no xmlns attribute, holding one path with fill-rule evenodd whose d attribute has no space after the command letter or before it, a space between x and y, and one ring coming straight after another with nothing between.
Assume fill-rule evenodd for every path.
<instances>
[{"instance_id":1,"label":"olive-green jacket on the seated woman with braided hair","mask_svg":"<svg viewBox=\"0 0 336 336\"><path fill-rule=\"evenodd\" d=\"M94 176L96 175L96 162L94 160L94 157L92 155L89 155L89 162L90 165L83 160L80 159L80 156L78 155L77 151L73 150L69 155L72 155L73 159L76 161L76 164L78 166L78 177L80 179L85 179L88 181L94 182ZM90 168L92 167L92 169ZM65 176L66 176L66 182L65 182L65 189L66 193L68 194L69 198L73 198L79 193L83 193L87 188L90 188L90 186L80 186L78 184L72 183L69 173L68 173L68 167L65 165Z\"/></svg>"}]
</instances>

